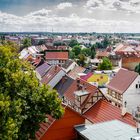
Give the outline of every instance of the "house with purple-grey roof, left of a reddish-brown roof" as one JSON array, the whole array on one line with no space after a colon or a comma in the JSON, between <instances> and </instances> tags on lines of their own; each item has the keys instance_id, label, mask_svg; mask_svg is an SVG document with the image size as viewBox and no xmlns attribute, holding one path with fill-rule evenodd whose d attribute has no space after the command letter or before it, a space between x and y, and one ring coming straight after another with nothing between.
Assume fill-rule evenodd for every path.
<instances>
[{"instance_id":1,"label":"house with purple-grey roof, left of a reddish-brown roof","mask_svg":"<svg viewBox=\"0 0 140 140\"><path fill-rule=\"evenodd\" d=\"M43 63L41 66L36 68L35 72L36 72L37 78L41 80L50 68L51 66L47 62Z\"/></svg>"}]
</instances>

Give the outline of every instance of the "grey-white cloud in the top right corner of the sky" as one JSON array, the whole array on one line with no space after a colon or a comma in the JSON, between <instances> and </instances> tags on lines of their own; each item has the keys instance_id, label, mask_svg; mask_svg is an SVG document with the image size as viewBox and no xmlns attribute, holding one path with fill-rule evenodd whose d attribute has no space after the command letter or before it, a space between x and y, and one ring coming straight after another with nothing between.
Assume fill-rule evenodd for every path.
<instances>
[{"instance_id":1,"label":"grey-white cloud in the top right corner of the sky","mask_svg":"<svg viewBox=\"0 0 140 140\"><path fill-rule=\"evenodd\" d=\"M140 13L139 0L88 0L84 7L90 12L94 9L103 9Z\"/></svg>"}]
</instances>

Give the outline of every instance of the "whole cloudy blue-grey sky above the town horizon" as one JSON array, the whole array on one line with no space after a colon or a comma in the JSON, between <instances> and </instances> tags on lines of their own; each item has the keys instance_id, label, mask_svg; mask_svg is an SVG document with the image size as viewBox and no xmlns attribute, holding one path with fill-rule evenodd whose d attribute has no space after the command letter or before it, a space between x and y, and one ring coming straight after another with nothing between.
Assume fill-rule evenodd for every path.
<instances>
[{"instance_id":1,"label":"whole cloudy blue-grey sky above the town horizon","mask_svg":"<svg viewBox=\"0 0 140 140\"><path fill-rule=\"evenodd\" d=\"M0 32L140 32L140 0L0 0Z\"/></svg>"}]
</instances>

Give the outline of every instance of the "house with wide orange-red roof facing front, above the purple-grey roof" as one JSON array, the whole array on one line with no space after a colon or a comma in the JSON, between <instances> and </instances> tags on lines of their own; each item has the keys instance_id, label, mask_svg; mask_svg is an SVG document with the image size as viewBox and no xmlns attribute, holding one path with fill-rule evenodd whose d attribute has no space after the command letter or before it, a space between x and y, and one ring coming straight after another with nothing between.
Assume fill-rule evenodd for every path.
<instances>
[{"instance_id":1,"label":"house with wide orange-red roof facing front, above the purple-grey roof","mask_svg":"<svg viewBox=\"0 0 140 140\"><path fill-rule=\"evenodd\" d=\"M50 65L63 65L68 60L68 52L46 52L45 59Z\"/></svg>"}]
</instances>

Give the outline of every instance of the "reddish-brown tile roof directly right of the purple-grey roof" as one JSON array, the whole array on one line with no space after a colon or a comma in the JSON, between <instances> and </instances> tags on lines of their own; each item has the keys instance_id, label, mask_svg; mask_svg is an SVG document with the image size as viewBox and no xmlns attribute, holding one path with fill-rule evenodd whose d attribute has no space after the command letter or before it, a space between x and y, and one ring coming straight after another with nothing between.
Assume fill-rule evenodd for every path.
<instances>
[{"instance_id":1,"label":"reddish-brown tile roof directly right of the purple-grey roof","mask_svg":"<svg viewBox=\"0 0 140 140\"><path fill-rule=\"evenodd\" d=\"M52 66L42 78L41 83L48 84L60 70L62 69L59 66Z\"/></svg>"}]
</instances>

